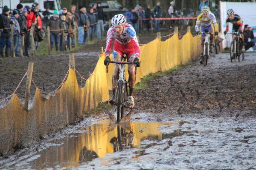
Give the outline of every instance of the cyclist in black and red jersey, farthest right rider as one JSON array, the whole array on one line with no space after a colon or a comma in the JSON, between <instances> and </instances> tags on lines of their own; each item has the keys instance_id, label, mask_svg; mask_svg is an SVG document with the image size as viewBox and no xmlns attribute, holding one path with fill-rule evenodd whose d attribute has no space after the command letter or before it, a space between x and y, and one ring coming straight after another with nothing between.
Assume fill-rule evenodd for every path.
<instances>
[{"instance_id":1,"label":"cyclist in black and red jersey, farthest right rider","mask_svg":"<svg viewBox=\"0 0 256 170\"><path fill-rule=\"evenodd\" d=\"M241 19L241 17L238 14L235 14L233 9L228 9L227 10L227 15L228 15L228 17L226 19L226 30L224 31L224 35L226 35L227 32L228 32L228 23L232 23L233 24L232 31L233 32L239 31L239 33L241 34L241 37L242 37L241 52L244 52L244 35L242 34L242 32L243 32L243 20Z\"/></svg>"}]
</instances>

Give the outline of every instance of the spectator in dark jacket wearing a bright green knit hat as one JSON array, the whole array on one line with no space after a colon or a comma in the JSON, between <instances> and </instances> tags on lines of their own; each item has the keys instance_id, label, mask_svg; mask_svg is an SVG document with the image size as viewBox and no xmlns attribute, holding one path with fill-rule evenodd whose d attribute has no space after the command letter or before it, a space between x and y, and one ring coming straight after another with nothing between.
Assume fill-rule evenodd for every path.
<instances>
[{"instance_id":1,"label":"spectator in dark jacket wearing a bright green knit hat","mask_svg":"<svg viewBox=\"0 0 256 170\"><path fill-rule=\"evenodd\" d=\"M55 10L53 16L48 20L47 26L50 27L50 45L51 50L53 47L53 41L55 41L55 49L59 51L59 36L61 36L61 29L63 25L61 24L61 19L58 18L58 12Z\"/></svg>"}]
</instances>

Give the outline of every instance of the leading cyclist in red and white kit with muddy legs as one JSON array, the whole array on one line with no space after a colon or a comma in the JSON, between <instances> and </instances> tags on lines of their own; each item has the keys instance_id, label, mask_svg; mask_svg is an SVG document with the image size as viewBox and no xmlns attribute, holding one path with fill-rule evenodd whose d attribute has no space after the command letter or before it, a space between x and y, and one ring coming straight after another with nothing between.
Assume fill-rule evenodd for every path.
<instances>
[{"instance_id":1,"label":"leading cyclist in red and white kit with muddy legs","mask_svg":"<svg viewBox=\"0 0 256 170\"><path fill-rule=\"evenodd\" d=\"M134 28L126 23L125 16L123 14L115 15L111 20L111 28L108 29L107 33L107 45L105 49L105 61L104 64L107 65L110 62L110 52L113 39L115 42L113 45L113 61L121 62L123 54L126 54L128 62L134 62L137 67L140 67L139 57L140 57L140 46L137 40L136 31ZM112 77L112 90L113 96L109 102L113 105L116 100L116 81L119 77L119 65L114 64L114 72ZM134 107L133 91L135 86L135 67L134 65L128 65L129 74L129 96L128 96L128 107Z\"/></svg>"}]
</instances>

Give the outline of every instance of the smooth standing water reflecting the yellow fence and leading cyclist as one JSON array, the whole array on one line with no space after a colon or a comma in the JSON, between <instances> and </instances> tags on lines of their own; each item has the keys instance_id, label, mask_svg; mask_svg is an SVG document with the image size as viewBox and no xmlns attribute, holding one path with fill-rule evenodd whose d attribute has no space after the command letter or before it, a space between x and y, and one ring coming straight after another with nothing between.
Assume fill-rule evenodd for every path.
<instances>
[{"instance_id":1,"label":"smooth standing water reflecting the yellow fence and leading cyclist","mask_svg":"<svg viewBox=\"0 0 256 170\"><path fill-rule=\"evenodd\" d=\"M149 154L145 153L145 150L152 146L167 144L163 150L167 150L172 146L172 140L159 143L163 139L172 139L182 135L193 136L196 133L223 133L224 131L219 129L207 131L191 130L190 127L186 128L186 130L175 130L172 124L176 123L179 124L178 127L181 127L184 124L193 125L193 123L196 124L197 122L126 122L119 125L102 122L91 125L90 127L82 127L78 131L85 131L85 133L67 134L65 138L56 140L54 144L51 143L51 146L45 147L46 149L38 152L37 155L40 154L40 157L30 161L29 168L78 167L80 164L84 164L95 158L105 157L107 153L131 148L137 149L134 152L135 157L143 156ZM162 133L160 129L168 133ZM239 128L232 128L232 130L239 133L242 131ZM241 142L248 142L246 139L252 137L255 136L247 136ZM197 147L204 146L194 145L196 142L192 140L191 145L189 145ZM56 147L55 145L59 146ZM178 147L185 146L188 145L183 143L178 144Z\"/></svg>"}]
</instances>

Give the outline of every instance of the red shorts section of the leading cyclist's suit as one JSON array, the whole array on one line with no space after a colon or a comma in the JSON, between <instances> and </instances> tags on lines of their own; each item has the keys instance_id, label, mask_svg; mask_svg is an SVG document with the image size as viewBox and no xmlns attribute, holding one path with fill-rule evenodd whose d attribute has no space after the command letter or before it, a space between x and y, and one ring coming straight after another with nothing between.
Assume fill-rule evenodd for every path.
<instances>
[{"instance_id":1,"label":"red shorts section of the leading cyclist's suit","mask_svg":"<svg viewBox=\"0 0 256 170\"><path fill-rule=\"evenodd\" d=\"M126 54L127 61L135 59L135 48L134 45L130 42L128 44L121 44L115 41L113 46L113 59L119 57L122 59L123 54Z\"/></svg>"}]
</instances>

